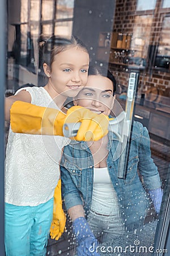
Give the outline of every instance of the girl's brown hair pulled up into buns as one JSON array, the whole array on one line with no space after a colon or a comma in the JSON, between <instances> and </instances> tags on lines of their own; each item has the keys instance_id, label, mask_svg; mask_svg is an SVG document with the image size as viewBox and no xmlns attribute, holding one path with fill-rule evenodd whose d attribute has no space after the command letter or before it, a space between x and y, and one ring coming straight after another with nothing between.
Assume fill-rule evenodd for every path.
<instances>
[{"instance_id":1,"label":"girl's brown hair pulled up into buns","mask_svg":"<svg viewBox=\"0 0 170 256\"><path fill-rule=\"evenodd\" d=\"M76 36L71 36L70 39L67 39L58 36L46 38L45 36L41 35L38 43L40 48L40 67L46 63L51 68L54 57L58 53L66 51L66 49L70 47L79 47L88 53L86 45Z\"/></svg>"}]
</instances>

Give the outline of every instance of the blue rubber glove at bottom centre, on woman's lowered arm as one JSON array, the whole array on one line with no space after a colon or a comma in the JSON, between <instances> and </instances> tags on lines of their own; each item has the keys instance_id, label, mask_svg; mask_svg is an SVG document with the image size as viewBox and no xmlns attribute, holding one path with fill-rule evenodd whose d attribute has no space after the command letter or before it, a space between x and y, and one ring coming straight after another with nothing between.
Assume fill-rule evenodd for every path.
<instances>
[{"instance_id":1,"label":"blue rubber glove at bottom centre, on woman's lowered arm","mask_svg":"<svg viewBox=\"0 0 170 256\"><path fill-rule=\"evenodd\" d=\"M91 232L86 218L76 218L73 221L73 231L78 243L78 256L100 256L100 254L96 252L97 240Z\"/></svg>"}]
</instances>

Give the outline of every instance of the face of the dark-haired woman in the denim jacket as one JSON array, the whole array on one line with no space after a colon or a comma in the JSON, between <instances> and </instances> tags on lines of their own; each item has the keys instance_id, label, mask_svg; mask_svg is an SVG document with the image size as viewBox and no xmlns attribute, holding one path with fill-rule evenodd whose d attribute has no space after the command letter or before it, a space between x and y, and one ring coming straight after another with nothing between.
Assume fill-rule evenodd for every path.
<instances>
[{"instance_id":1,"label":"face of the dark-haired woman in the denim jacket","mask_svg":"<svg viewBox=\"0 0 170 256\"><path fill-rule=\"evenodd\" d=\"M74 105L83 106L97 114L109 115L114 98L111 80L104 76L88 76L87 84L76 96Z\"/></svg>"}]
</instances>

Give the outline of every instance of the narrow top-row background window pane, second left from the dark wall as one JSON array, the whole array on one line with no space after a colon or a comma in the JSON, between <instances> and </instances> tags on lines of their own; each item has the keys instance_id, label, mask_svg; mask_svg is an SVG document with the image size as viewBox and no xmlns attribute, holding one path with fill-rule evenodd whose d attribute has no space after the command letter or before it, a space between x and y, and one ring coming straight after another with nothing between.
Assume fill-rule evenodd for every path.
<instances>
[{"instance_id":1,"label":"narrow top-row background window pane, second left from the dark wall","mask_svg":"<svg viewBox=\"0 0 170 256\"><path fill-rule=\"evenodd\" d=\"M42 20L53 19L53 0L43 0L42 1Z\"/></svg>"}]
</instances>

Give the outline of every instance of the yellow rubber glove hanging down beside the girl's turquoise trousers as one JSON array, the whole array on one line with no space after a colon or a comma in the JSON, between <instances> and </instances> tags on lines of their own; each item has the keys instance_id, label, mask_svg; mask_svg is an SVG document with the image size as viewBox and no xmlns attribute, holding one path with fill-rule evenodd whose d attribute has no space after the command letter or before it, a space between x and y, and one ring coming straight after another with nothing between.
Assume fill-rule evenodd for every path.
<instances>
[{"instance_id":1,"label":"yellow rubber glove hanging down beside the girl's turquoise trousers","mask_svg":"<svg viewBox=\"0 0 170 256\"><path fill-rule=\"evenodd\" d=\"M65 231L66 216L62 209L61 199L61 179L58 180L57 187L54 191L54 208L53 221L50 226L50 236L52 239L58 240Z\"/></svg>"}]
</instances>

